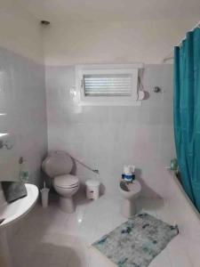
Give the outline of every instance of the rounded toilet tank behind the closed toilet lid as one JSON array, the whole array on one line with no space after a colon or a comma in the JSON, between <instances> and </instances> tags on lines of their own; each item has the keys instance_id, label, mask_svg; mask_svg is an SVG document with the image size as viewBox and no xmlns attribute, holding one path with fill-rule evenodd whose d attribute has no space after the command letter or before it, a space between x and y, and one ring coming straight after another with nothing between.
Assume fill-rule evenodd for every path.
<instances>
[{"instance_id":1,"label":"rounded toilet tank behind the closed toilet lid","mask_svg":"<svg viewBox=\"0 0 200 267\"><path fill-rule=\"evenodd\" d=\"M66 152L54 151L44 159L42 169L45 174L54 178L55 176L69 174L73 167L73 161Z\"/></svg>"}]
</instances>

